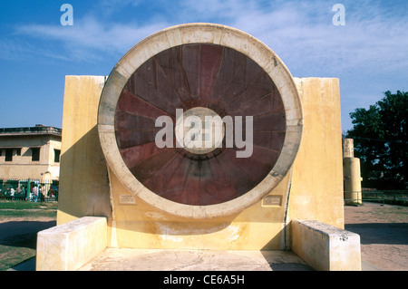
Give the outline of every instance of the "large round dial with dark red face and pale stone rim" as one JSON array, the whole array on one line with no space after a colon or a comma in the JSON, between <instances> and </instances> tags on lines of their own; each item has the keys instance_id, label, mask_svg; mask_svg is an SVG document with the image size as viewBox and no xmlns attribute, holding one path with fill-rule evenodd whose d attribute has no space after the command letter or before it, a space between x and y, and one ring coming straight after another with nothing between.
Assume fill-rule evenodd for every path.
<instances>
[{"instance_id":1,"label":"large round dial with dark red face and pale stone rim","mask_svg":"<svg viewBox=\"0 0 408 289\"><path fill-rule=\"evenodd\" d=\"M251 155L237 158L224 132L217 147L158 148L155 120L168 116L177 135L177 109L242 117L244 132L252 117ZM277 186L296 157L302 118L293 78L267 45L224 25L183 24L152 34L116 64L98 130L109 166L134 196L173 215L207 218L241 211Z\"/></svg>"}]
</instances>

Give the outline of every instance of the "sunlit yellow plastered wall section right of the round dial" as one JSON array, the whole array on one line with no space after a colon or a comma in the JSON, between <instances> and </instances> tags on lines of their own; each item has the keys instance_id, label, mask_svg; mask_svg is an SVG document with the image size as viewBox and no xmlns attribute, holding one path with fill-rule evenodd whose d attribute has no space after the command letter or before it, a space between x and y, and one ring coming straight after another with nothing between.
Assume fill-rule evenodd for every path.
<instances>
[{"instance_id":1,"label":"sunlit yellow plastered wall section right of the round dial","mask_svg":"<svg viewBox=\"0 0 408 289\"><path fill-rule=\"evenodd\" d=\"M304 129L293 170L288 219L344 228L340 87L335 78L295 78Z\"/></svg>"}]
</instances>

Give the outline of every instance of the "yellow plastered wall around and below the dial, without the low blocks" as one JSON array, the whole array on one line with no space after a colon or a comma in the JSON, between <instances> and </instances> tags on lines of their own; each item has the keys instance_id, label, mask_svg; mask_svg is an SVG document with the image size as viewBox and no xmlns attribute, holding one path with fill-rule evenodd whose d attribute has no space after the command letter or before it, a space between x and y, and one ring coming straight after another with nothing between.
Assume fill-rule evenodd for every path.
<instances>
[{"instance_id":1,"label":"yellow plastered wall around and below the dial, without the low blocks","mask_svg":"<svg viewBox=\"0 0 408 289\"><path fill-rule=\"evenodd\" d=\"M106 217L107 246L238 250L290 249L294 219L344 228L338 79L294 79L304 130L287 176L255 205L206 219L177 217L147 204L107 167L97 132L105 79L65 78L57 225L86 216Z\"/></svg>"}]
</instances>

